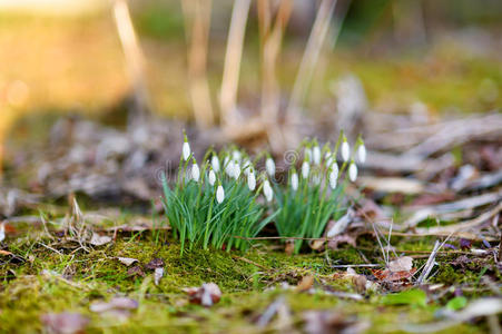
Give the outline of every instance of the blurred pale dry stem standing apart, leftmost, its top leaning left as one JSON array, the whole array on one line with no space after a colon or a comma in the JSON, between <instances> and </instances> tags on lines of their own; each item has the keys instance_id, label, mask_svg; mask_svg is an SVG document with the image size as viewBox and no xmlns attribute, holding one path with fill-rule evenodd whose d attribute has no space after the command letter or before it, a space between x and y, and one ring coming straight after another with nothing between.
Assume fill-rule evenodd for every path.
<instances>
[{"instance_id":1,"label":"blurred pale dry stem standing apart, leftmost, its top leaning left","mask_svg":"<svg viewBox=\"0 0 502 334\"><path fill-rule=\"evenodd\" d=\"M145 118L150 110L149 96L145 80L145 57L135 33L129 8L125 0L115 0L114 17L120 43L126 56L128 73L134 87L136 111Z\"/></svg>"}]
</instances>

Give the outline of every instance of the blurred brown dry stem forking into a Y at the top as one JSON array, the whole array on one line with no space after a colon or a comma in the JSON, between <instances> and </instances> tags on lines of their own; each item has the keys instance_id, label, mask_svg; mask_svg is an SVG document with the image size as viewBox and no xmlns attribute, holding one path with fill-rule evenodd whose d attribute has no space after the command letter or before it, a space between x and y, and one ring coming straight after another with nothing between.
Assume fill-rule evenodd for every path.
<instances>
[{"instance_id":1,"label":"blurred brown dry stem forking into a Y at the top","mask_svg":"<svg viewBox=\"0 0 502 334\"><path fill-rule=\"evenodd\" d=\"M280 91L276 77L276 65L291 11L292 1L282 0L273 26L270 0L258 0L262 47L262 119L267 128L272 148L277 151L285 146L285 143L280 128L277 126Z\"/></svg>"}]
</instances>

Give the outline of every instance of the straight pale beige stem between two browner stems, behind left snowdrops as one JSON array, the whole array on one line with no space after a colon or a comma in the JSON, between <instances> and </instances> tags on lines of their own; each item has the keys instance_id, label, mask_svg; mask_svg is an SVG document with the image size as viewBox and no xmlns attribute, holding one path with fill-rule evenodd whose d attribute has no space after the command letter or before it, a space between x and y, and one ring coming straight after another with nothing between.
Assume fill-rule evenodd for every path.
<instances>
[{"instance_id":1,"label":"straight pale beige stem between two browner stems, behind left snowdrops","mask_svg":"<svg viewBox=\"0 0 502 334\"><path fill-rule=\"evenodd\" d=\"M250 0L236 0L232 11L222 90L219 92L220 120L224 125L230 124L232 112L236 106L240 60L243 57L244 36L249 14L249 6Z\"/></svg>"}]
</instances>

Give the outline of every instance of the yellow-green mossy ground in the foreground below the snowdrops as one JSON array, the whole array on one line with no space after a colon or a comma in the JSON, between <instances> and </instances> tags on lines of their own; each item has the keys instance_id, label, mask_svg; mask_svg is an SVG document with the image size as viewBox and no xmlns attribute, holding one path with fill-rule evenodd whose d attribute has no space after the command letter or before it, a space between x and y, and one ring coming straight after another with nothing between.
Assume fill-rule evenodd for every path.
<instances>
[{"instance_id":1,"label":"yellow-green mossy ground in the foreground below the snowdrops","mask_svg":"<svg viewBox=\"0 0 502 334\"><path fill-rule=\"evenodd\" d=\"M362 301L327 294L326 289L355 293L351 279L344 278L344 269L331 265L361 264L366 259L382 263L380 249L370 237L362 237L357 249L331 250L327 261L324 252L286 255L277 243L255 244L245 253L191 249L180 255L179 244L166 230L159 235L157 232L119 233L115 242L83 252L76 250L78 246L71 243L50 239L41 230L41 227L31 227L27 233L18 226L18 234L7 239L8 249L23 261L0 258L0 332L40 332L43 328L40 316L51 312L77 312L89 317L89 333L269 332L285 328L278 327L282 324L276 320L266 327L258 327L256 323L280 296L291 308L292 328L303 328L305 311L332 310L347 318L370 323L368 333L401 332L404 323L433 321L435 312L449 301L449 297L431 299L425 307L388 306L383 304L386 293L380 291L367 293ZM403 250L427 250L430 242L393 238ZM161 258L165 276L158 286L154 284L152 272L146 268L145 277L130 276L127 273L130 267L117 257L137 258L140 265ZM481 287L480 271L456 272L447 264L452 257L454 255L439 258L441 266L434 283ZM424 261L417 259L415 265ZM356 271L371 274L364 268ZM284 282L294 287L306 275L315 277L315 293L279 287ZM189 304L183 289L206 282L220 287L222 301L210 308ZM476 293L480 294L483 289ZM139 307L124 321L90 312L90 304L114 296L134 298ZM482 333L485 326L484 322L462 324L447 332Z\"/></svg>"}]
</instances>

